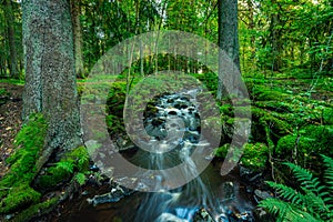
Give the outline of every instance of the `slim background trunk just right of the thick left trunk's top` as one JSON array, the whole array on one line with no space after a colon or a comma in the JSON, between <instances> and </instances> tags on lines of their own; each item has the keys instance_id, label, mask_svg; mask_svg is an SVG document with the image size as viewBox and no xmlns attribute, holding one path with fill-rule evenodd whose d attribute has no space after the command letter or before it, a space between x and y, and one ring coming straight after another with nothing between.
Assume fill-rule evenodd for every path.
<instances>
[{"instance_id":1,"label":"slim background trunk just right of the thick left trunk's top","mask_svg":"<svg viewBox=\"0 0 333 222\"><path fill-rule=\"evenodd\" d=\"M80 1L71 0L71 16L72 16L74 56L75 56L75 73L78 78L84 78L80 11L81 11Z\"/></svg>"}]
</instances>

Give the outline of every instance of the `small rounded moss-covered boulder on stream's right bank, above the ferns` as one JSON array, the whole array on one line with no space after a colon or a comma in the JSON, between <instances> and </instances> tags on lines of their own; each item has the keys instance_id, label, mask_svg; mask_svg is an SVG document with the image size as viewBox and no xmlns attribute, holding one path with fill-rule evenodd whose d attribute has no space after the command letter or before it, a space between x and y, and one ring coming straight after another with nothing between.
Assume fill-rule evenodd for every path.
<instances>
[{"instance_id":1,"label":"small rounded moss-covered boulder on stream's right bank, above the ferns","mask_svg":"<svg viewBox=\"0 0 333 222\"><path fill-rule=\"evenodd\" d=\"M241 164L253 170L262 170L268 162L269 149L264 143L246 143Z\"/></svg>"}]
</instances>

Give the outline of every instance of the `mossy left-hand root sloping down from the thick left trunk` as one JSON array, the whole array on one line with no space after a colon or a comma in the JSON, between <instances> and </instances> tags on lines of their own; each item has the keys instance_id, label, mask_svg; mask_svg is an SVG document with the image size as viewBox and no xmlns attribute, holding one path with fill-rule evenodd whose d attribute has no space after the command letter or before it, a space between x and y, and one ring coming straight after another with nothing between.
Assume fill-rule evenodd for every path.
<instances>
[{"instance_id":1,"label":"mossy left-hand root sloping down from the thick left trunk","mask_svg":"<svg viewBox=\"0 0 333 222\"><path fill-rule=\"evenodd\" d=\"M36 162L44 144L47 123L39 113L32 114L16 138L17 150L7 159L10 172L0 181L1 213L36 203L40 193L30 183L36 176Z\"/></svg>"}]
</instances>

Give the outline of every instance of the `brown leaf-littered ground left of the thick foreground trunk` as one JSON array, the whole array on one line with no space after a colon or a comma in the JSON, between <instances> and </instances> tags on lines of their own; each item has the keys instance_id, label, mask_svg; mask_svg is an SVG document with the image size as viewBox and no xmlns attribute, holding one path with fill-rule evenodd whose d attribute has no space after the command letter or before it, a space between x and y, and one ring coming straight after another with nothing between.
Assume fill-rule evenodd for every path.
<instances>
[{"instance_id":1,"label":"brown leaf-littered ground left of the thick foreground trunk","mask_svg":"<svg viewBox=\"0 0 333 222\"><path fill-rule=\"evenodd\" d=\"M8 172L9 165L4 160L10 157L14 149L14 138L22 127L22 84L0 82L0 89L9 92L8 101L0 105L0 179Z\"/></svg>"}]
</instances>

